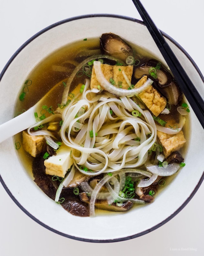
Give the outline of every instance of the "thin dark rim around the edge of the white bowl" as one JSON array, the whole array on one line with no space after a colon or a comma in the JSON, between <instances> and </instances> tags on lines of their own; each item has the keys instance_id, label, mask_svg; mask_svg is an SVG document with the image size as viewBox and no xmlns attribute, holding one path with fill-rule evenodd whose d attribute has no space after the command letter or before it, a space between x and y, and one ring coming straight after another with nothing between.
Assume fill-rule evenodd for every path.
<instances>
[{"instance_id":1,"label":"thin dark rim around the edge of the white bowl","mask_svg":"<svg viewBox=\"0 0 204 256\"><path fill-rule=\"evenodd\" d=\"M7 68L9 67L9 65L12 63L12 61L15 59L15 57L18 55L18 53L20 53L26 45L28 45L31 41L33 41L35 38L37 38L38 36L40 36L41 34L45 33L47 30L52 29L56 26L59 26L63 23L67 23L73 20L77 20L77 19L83 19L83 18L91 18L91 17L113 17L113 18L119 18L119 19L126 19L129 21L133 21L133 22L137 22L139 24L144 25L143 21L135 19L135 18L131 18L131 17L126 17L126 16L120 16L120 15L112 15L112 14L90 14L90 15L83 15L83 16L76 16L76 17L72 17L72 18L68 18L68 19L64 19L61 20L59 22L56 22L48 27L46 27L45 29L42 29L41 31L39 31L38 33L36 33L34 36L32 36L30 39L28 39L13 55L12 57L9 59L9 61L7 62L7 64L5 65L5 67L3 68L1 74L0 74L0 81L5 73L5 71L7 70ZM145 26L145 25L144 25ZM174 45L176 45L178 47L178 49L180 49L185 55L186 57L190 60L190 62L193 64L193 66L195 67L195 69L197 70L199 76L201 77L202 81L204 82L204 77L202 76L202 73L200 72L198 66L195 64L195 62L193 61L193 59L189 56L189 54L175 41L173 40L171 37L169 37L166 33L164 33L163 31L161 31L161 33L169 40L171 41ZM195 195L195 193L197 192L197 190L199 189L202 181L204 180L204 172L198 182L198 184L196 185L195 189L193 190L193 192L190 194L190 196L186 199L186 201L172 214L170 215L168 218L166 218L165 220L163 220L161 223L158 223L157 225L155 225L154 227L151 227L143 232L140 232L138 234L132 235L132 236L127 236L127 237L122 237L122 238L117 238L117 239L85 239L85 238L80 238L80 237L75 237L75 236L70 236L67 235L65 233L59 232L56 229L53 229L49 226L47 226L46 224L42 223L40 220L38 220L35 216L33 216L31 213L29 213L14 197L14 195L10 192L9 188L6 186L4 180L2 179L1 175L0 175L0 181L4 187L4 189L6 190L6 192L8 193L8 195L11 197L11 199L15 202L15 204L18 205L18 207L26 214L28 215L30 218L32 218L34 221L36 221L38 224L40 224L41 226L47 228L50 231L55 232L58 235L70 238L70 239L75 239L78 241L84 241L84 242L93 242L93 243L110 243L110 242L119 242L119 241L125 241L125 240L129 240L129 239L133 239L133 238L137 238L139 236L143 236L155 229L157 229L158 227L161 227L162 225L164 225L165 223L167 223L170 219L172 219L174 216L176 216L188 203L189 201L192 199L192 197Z\"/></svg>"}]
</instances>

